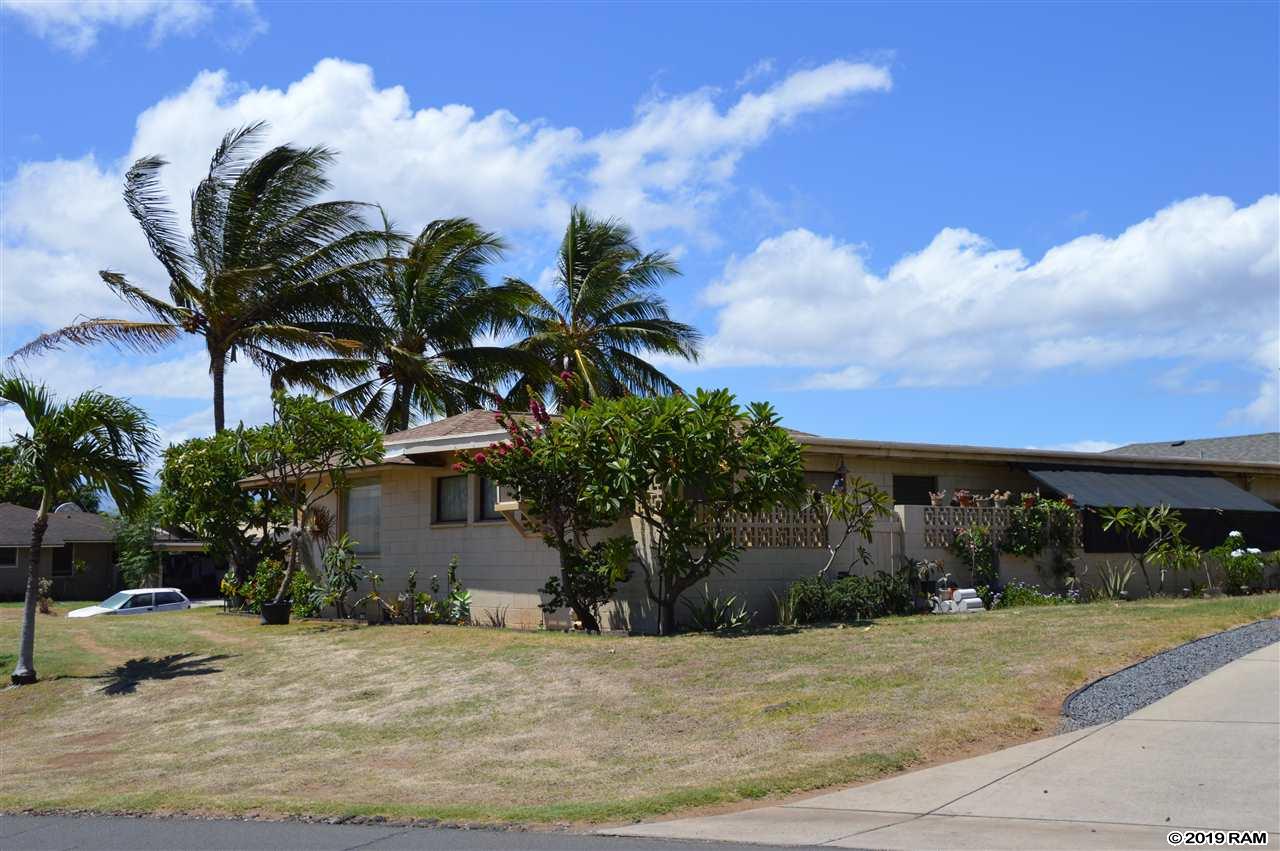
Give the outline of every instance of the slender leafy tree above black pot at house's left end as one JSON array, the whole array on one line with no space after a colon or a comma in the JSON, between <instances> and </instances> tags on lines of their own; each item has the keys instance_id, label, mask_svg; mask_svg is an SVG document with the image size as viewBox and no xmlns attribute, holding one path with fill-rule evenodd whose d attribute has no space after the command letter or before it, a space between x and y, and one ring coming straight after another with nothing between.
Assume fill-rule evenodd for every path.
<instances>
[{"instance_id":1,"label":"slender leafy tree above black pot at house's left end","mask_svg":"<svg viewBox=\"0 0 1280 851\"><path fill-rule=\"evenodd\" d=\"M237 429L239 449L260 486L270 490L293 521L289 561L275 593L282 603L298 561L311 558L306 537L330 518L323 503L347 485L347 471L383 459L383 438L374 426L306 395L273 394L275 421L251 431ZM312 566L307 569L315 573Z\"/></svg>"}]
</instances>

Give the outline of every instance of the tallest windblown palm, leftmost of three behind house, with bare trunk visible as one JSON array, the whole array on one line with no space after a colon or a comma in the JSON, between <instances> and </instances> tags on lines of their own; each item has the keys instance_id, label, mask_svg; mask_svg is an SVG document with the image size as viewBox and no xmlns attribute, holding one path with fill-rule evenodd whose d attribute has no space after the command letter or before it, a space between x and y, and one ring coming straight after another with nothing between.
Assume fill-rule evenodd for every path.
<instances>
[{"instance_id":1,"label":"tallest windblown palm, leftmost of three behind house, with bare trunk visible","mask_svg":"<svg viewBox=\"0 0 1280 851\"><path fill-rule=\"evenodd\" d=\"M209 175L191 196L189 239L160 188L165 160L142 157L125 174L124 202L169 278L169 298L147 293L120 273L99 274L148 321L90 319L42 334L13 357L65 343L156 351L184 333L204 337L214 429L221 431L223 376L238 352L274 370L282 351L344 351L344 340L319 331L315 322L376 273L370 251L383 237L365 229L364 205L316 202L329 188L332 151L283 145L250 159L264 132L265 124L257 123L223 137Z\"/></svg>"}]
</instances>

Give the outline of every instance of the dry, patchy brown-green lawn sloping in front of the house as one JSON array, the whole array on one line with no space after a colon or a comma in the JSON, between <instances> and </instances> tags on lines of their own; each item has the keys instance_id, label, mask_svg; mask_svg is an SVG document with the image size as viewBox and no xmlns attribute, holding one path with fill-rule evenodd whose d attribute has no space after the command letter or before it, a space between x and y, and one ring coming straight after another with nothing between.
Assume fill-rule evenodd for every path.
<instances>
[{"instance_id":1,"label":"dry, patchy brown-green lawn sloping in front of the house","mask_svg":"<svg viewBox=\"0 0 1280 851\"><path fill-rule=\"evenodd\" d=\"M0 607L0 648L19 613ZM1271 595L675 639L42 616L44 681L0 692L0 809L548 823L781 797L1044 736L1084 682L1277 613Z\"/></svg>"}]
</instances>

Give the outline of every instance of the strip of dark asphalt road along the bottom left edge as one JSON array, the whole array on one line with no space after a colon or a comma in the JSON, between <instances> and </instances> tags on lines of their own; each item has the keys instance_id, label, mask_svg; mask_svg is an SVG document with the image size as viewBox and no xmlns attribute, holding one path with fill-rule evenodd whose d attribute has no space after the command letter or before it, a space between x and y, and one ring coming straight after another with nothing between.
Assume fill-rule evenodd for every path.
<instances>
[{"instance_id":1,"label":"strip of dark asphalt road along the bottom left edge","mask_svg":"<svg viewBox=\"0 0 1280 851\"><path fill-rule=\"evenodd\" d=\"M102 851L223 851L297 848L298 851L696 851L768 846L678 839L584 836L522 831L458 831L376 824L307 824L204 819L132 819L72 815L0 815L4 851L101 848Z\"/></svg>"}]
</instances>

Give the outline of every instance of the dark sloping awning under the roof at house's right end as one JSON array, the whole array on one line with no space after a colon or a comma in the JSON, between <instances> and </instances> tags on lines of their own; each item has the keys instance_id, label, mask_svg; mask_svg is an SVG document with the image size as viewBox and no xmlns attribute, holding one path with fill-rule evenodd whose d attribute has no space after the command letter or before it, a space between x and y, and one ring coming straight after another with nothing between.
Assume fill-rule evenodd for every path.
<instances>
[{"instance_id":1,"label":"dark sloping awning under the roof at house's right end","mask_svg":"<svg viewBox=\"0 0 1280 851\"><path fill-rule=\"evenodd\" d=\"M1080 505L1169 505L1183 509L1280 512L1265 499L1208 473L1028 468L1041 484Z\"/></svg>"}]
</instances>

